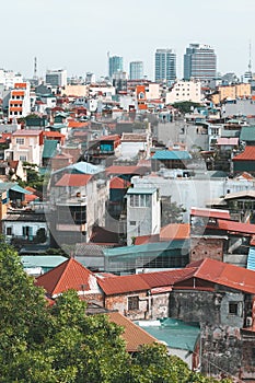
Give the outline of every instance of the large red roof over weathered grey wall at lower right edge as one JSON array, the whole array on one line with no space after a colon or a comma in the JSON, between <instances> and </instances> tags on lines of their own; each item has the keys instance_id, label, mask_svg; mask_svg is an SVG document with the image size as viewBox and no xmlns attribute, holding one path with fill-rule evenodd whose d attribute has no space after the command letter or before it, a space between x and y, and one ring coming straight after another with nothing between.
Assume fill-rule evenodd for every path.
<instances>
[{"instance_id":1,"label":"large red roof over weathered grey wall at lower right edge","mask_svg":"<svg viewBox=\"0 0 255 383\"><path fill-rule=\"evenodd\" d=\"M190 264L186 266L195 266L196 264ZM212 283L218 283L221 286L229 287L239 291L255 293L255 271L247 270L243 267L225 264L220 260L206 258L202 262L197 263L197 268L192 267L192 274L188 277L183 278L184 280L196 278ZM176 288L178 285L182 286L181 281L177 281ZM196 283L193 285L196 289ZM190 286L188 287L190 289Z\"/></svg>"}]
</instances>

